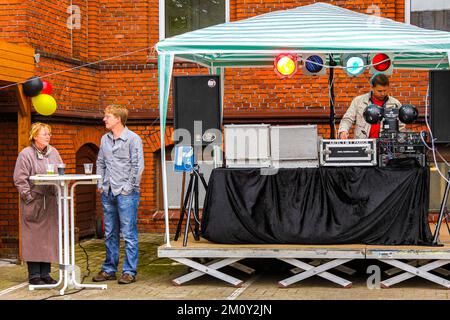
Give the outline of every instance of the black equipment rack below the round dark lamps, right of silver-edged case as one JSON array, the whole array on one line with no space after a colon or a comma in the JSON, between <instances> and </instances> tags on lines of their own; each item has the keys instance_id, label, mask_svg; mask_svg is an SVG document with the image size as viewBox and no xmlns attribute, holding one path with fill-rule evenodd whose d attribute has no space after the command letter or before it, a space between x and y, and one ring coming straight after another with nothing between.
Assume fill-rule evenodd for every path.
<instances>
[{"instance_id":1,"label":"black equipment rack below the round dark lamps, right of silver-edged case","mask_svg":"<svg viewBox=\"0 0 450 320\"><path fill-rule=\"evenodd\" d=\"M415 159L427 165L426 149L419 132L381 132L378 138L378 163L385 167L393 159Z\"/></svg>"}]
</instances>

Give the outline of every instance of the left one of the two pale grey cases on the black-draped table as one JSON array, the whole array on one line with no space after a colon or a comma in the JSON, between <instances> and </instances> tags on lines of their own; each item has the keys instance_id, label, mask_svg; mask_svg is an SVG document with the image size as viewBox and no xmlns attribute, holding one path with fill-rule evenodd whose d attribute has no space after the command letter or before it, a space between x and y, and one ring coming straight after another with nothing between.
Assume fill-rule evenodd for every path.
<instances>
[{"instance_id":1,"label":"left one of the two pale grey cases on the black-draped table","mask_svg":"<svg viewBox=\"0 0 450 320\"><path fill-rule=\"evenodd\" d=\"M225 125L227 167L270 167L270 125Z\"/></svg>"}]
</instances>

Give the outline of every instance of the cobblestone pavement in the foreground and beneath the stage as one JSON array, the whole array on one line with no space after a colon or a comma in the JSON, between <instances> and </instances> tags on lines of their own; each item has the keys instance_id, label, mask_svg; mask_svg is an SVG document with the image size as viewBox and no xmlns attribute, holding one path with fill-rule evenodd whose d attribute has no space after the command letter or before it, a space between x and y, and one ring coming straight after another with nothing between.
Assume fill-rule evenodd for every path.
<instances>
[{"instance_id":1,"label":"cobblestone pavement in the foreground and beneath the stage","mask_svg":"<svg viewBox=\"0 0 450 320\"><path fill-rule=\"evenodd\" d=\"M278 281L289 277L289 266L277 260L246 259L244 264L255 268L255 275L246 275L241 271L225 267L226 273L245 281L243 288L235 288L225 282L202 276L182 286L172 285L171 280L188 271L184 265L170 259L158 258L156 250L163 243L160 234L140 234L140 261L137 282L130 285L119 285L116 281L109 281L107 290L71 289L66 295L59 296L57 290L29 291L26 285L26 266L0 264L0 299L2 300L93 300L93 299L151 299L151 300L450 300L450 290L426 281L413 278L390 289L369 289L366 285L367 267L371 264L379 265L383 270L390 268L376 261L352 261L348 265L358 270L353 276L333 271L346 279L353 281L351 289L344 289L319 277L309 278L287 288L279 288ZM84 283L91 283L92 276L100 270L104 259L103 240L93 239L83 241L81 245L89 256L89 271L86 265L86 255L77 246L77 266L81 269L80 277L85 277ZM122 243L123 248L123 243ZM122 250L123 256L123 250ZM122 261L122 260L121 260ZM447 266L448 268L448 266ZM52 276L57 278L55 266ZM89 275L88 275L89 274ZM87 276L88 275L88 276ZM382 276L383 279L386 276ZM448 279L448 277L447 277ZM22 284L22 287L20 285ZM17 288L11 287L18 286Z\"/></svg>"}]
</instances>

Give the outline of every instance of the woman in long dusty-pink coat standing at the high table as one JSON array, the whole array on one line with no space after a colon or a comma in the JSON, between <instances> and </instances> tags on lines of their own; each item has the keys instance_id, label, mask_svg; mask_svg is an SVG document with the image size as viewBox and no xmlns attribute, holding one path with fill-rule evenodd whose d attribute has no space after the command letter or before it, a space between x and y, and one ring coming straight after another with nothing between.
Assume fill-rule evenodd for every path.
<instances>
[{"instance_id":1,"label":"woman in long dusty-pink coat standing at the high table","mask_svg":"<svg viewBox=\"0 0 450 320\"><path fill-rule=\"evenodd\" d=\"M55 284L50 277L51 262L58 262L58 206L54 186L34 185L29 177L46 173L48 164L62 163L58 150L50 146L51 128L34 123L29 147L16 161L14 185L22 210L22 257L28 265L30 284Z\"/></svg>"}]
</instances>

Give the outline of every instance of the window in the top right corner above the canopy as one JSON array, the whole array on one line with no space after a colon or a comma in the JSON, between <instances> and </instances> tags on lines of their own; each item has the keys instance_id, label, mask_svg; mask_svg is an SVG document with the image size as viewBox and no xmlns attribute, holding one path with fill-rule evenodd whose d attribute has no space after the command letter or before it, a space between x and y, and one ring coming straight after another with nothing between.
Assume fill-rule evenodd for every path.
<instances>
[{"instance_id":1,"label":"window in the top right corner above the canopy","mask_svg":"<svg viewBox=\"0 0 450 320\"><path fill-rule=\"evenodd\" d=\"M406 0L406 21L425 29L450 31L450 1Z\"/></svg>"}]
</instances>

